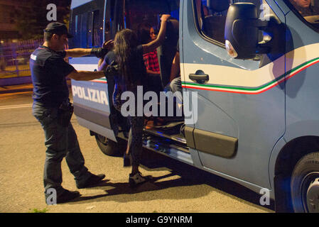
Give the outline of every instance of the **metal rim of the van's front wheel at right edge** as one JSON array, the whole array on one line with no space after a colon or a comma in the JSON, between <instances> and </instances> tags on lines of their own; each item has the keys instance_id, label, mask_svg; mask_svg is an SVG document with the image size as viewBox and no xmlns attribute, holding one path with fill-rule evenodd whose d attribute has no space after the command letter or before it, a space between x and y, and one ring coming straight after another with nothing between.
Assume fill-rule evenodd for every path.
<instances>
[{"instance_id":1,"label":"metal rim of the van's front wheel at right edge","mask_svg":"<svg viewBox=\"0 0 319 227\"><path fill-rule=\"evenodd\" d=\"M301 200L306 212L319 212L319 172L310 172L301 182Z\"/></svg>"}]
</instances>

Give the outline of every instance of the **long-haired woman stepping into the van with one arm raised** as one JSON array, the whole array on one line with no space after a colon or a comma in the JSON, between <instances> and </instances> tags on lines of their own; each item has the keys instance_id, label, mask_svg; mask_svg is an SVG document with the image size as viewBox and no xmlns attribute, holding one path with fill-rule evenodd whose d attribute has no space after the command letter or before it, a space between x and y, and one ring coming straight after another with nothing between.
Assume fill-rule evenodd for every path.
<instances>
[{"instance_id":1,"label":"long-haired woman stepping into the van with one arm raised","mask_svg":"<svg viewBox=\"0 0 319 227\"><path fill-rule=\"evenodd\" d=\"M119 74L114 77L115 88L113 94L114 107L121 111L124 101L121 100L123 92L132 92L135 95L135 103L137 103L137 87L143 86L146 77L146 68L144 65L143 55L158 48L163 43L166 33L166 22L170 15L161 16L161 29L156 40L150 43L139 45L139 40L134 31L124 29L115 35L114 53L115 60L119 65ZM146 182L149 178L144 177L139 172L139 164L142 152L142 133L144 127L143 116L137 116L137 105L135 105L135 113L129 115L131 129L129 132L128 149L126 150L126 159L124 158L124 166L127 160L129 150L131 150L132 171L129 175L129 184L131 187ZM125 155L124 155L125 157Z\"/></svg>"}]
</instances>

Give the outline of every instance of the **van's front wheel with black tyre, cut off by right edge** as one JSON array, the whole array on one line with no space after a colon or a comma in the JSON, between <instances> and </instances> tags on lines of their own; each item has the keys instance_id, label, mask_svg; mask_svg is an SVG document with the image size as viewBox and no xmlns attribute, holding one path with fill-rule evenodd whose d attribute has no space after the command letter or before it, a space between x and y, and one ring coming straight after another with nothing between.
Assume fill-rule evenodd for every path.
<instances>
[{"instance_id":1,"label":"van's front wheel with black tyre, cut off by right edge","mask_svg":"<svg viewBox=\"0 0 319 227\"><path fill-rule=\"evenodd\" d=\"M299 160L291 175L291 199L296 213L319 213L319 153Z\"/></svg>"}]
</instances>

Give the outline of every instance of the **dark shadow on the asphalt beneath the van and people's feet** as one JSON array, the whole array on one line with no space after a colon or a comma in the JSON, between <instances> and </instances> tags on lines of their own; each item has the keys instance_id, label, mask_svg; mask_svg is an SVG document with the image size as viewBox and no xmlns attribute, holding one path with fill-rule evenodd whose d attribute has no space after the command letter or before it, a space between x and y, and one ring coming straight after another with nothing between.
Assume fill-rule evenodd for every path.
<instances>
[{"instance_id":1,"label":"dark shadow on the asphalt beneath the van and people's feet","mask_svg":"<svg viewBox=\"0 0 319 227\"><path fill-rule=\"evenodd\" d=\"M148 171L168 170L171 173L161 177L153 177L151 182L141 184L134 189L129 187L128 182L112 183L106 180L98 187L93 188L102 189L106 194L81 196L72 201L72 203L82 204L88 201L92 202L92 199L94 199L94 201L118 201L123 203L129 201L151 201L153 199L194 199L205 196L212 190L217 190L220 194L230 196L232 199L256 206L259 209L274 210L274 201L271 201L270 206L261 206L259 204L261 194L256 194L240 184L212 175L209 172L199 170L198 168L178 162L169 157L145 150L144 159L141 164L141 168ZM168 177L177 179L165 180ZM209 185L211 190L195 191L191 188L193 185L201 184ZM173 187L181 187L180 192L176 193L176 190L170 191L169 189ZM148 196L145 196L144 192L148 192ZM153 192L156 192L156 194Z\"/></svg>"}]
</instances>

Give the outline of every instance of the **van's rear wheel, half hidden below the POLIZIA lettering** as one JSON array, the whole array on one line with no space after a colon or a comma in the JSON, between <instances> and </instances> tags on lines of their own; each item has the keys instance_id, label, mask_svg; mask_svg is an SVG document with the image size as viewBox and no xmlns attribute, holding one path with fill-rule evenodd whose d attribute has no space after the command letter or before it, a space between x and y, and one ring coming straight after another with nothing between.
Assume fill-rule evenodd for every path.
<instances>
[{"instance_id":1,"label":"van's rear wheel, half hidden below the POLIZIA lettering","mask_svg":"<svg viewBox=\"0 0 319 227\"><path fill-rule=\"evenodd\" d=\"M97 140L97 145L104 155L121 156L124 153L125 143L123 140L118 140L119 143L117 143L102 135L95 135L95 140Z\"/></svg>"}]
</instances>

